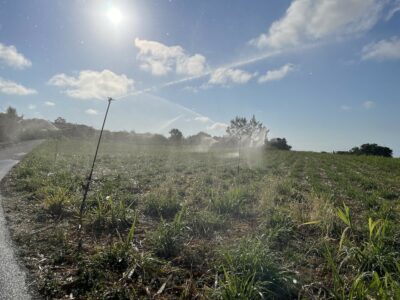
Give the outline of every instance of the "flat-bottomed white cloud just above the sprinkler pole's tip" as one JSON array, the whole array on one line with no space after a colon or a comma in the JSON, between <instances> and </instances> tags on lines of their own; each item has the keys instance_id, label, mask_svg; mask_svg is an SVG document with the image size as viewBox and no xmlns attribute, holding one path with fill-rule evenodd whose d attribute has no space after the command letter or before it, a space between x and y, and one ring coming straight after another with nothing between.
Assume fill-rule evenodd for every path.
<instances>
[{"instance_id":1,"label":"flat-bottomed white cloud just above the sprinkler pole's tip","mask_svg":"<svg viewBox=\"0 0 400 300\"><path fill-rule=\"evenodd\" d=\"M72 98L106 99L126 95L132 90L134 81L110 70L84 70L77 77L57 74L50 78L48 84L65 88L64 92Z\"/></svg>"}]
</instances>

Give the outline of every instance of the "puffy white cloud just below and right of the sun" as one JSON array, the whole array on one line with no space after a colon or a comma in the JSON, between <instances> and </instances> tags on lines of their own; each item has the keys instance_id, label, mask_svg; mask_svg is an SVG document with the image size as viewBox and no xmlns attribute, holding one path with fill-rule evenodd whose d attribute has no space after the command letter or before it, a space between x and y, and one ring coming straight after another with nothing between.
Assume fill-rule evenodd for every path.
<instances>
[{"instance_id":1,"label":"puffy white cloud just below and right of the sun","mask_svg":"<svg viewBox=\"0 0 400 300\"><path fill-rule=\"evenodd\" d=\"M201 54L187 55L181 46L167 46L156 41L136 38L139 49L137 59L142 70L161 76L171 72L180 75L197 76L206 69L206 58Z\"/></svg>"}]
</instances>

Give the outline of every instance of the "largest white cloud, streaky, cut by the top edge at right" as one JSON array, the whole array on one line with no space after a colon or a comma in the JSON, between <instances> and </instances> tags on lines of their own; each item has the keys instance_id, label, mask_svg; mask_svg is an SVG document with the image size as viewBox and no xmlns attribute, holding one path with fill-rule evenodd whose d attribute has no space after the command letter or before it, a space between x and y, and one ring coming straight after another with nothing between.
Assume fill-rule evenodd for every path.
<instances>
[{"instance_id":1,"label":"largest white cloud, streaky, cut by the top edge at right","mask_svg":"<svg viewBox=\"0 0 400 300\"><path fill-rule=\"evenodd\" d=\"M381 17L382 0L294 0L268 33L250 41L259 48L280 49L328 37L362 33Z\"/></svg>"}]
</instances>

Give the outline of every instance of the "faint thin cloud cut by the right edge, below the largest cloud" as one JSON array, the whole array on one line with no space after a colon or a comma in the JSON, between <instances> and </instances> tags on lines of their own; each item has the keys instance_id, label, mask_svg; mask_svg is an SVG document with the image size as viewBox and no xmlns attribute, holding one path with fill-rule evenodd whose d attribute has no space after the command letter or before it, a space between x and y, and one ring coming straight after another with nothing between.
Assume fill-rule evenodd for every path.
<instances>
[{"instance_id":1,"label":"faint thin cloud cut by the right edge, below the largest cloud","mask_svg":"<svg viewBox=\"0 0 400 300\"><path fill-rule=\"evenodd\" d=\"M400 39L394 36L388 40L381 40L364 46L362 59L378 61L400 59Z\"/></svg>"}]
</instances>

